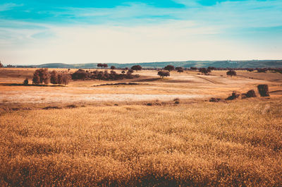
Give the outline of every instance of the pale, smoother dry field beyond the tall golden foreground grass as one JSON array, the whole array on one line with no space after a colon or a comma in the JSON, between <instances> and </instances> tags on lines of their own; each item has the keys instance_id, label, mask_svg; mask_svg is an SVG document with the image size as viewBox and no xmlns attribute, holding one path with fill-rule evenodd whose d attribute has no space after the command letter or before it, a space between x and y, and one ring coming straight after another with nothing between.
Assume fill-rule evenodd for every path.
<instances>
[{"instance_id":1,"label":"pale, smoother dry field beyond the tall golden foreground grass","mask_svg":"<svg viewBox=\"0 0 282 187\"><path fill-rule=\"evenodd\" d=\"M49 69L52 71L53 69ZM67 71L67 69L56 69ZM185 71L183 73L171 72L171 77L161 79L157 71L138 71L140 78L133 80L102 81L85 80L71 81L66 87L39 87L20 86L15 83L23 83L25 77L32 77L35 68L2 68L0 69L0 102L9 103L51 103L51 102L121 102L121 101L149 101L171 100L173 97L180 99L228 97L233 91L247 92L256 90L259 84L268 84L269 91L275 95L282 95L282 80L280 73L247 73L248 76L261 76L259 79L250 79L243 76L226 78L219 76L226 71L213 71L216 76L197 75L197 71ZM72 69L71 72L74 72ZM238 72L240 74L240 72ZM249 75L250 74L250 75ZM265 76L266 75L266 76ZM266 80L263 80L266 79ZM277 80L269 82L269 80ZM98 86L105 83L135 82L140 85L109 85ZM280 91L279 91L280 90ZM44 99L42 99L44 98Z\"/></svg>"}]
</instances>

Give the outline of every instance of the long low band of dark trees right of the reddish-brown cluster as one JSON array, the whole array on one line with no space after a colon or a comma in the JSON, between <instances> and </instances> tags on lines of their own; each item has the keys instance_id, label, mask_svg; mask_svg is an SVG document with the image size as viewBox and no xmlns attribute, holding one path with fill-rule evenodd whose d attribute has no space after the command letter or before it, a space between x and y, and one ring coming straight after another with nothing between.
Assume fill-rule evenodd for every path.
<instances>
[{"instance_id":1,"label":"long low band of dark trees right of the reddish-brown cluster","mask_svg":"<svg viewBox=\"0 0 282 187\"><path fill-rule=\"evenodd\" d=\"M85 71L83 69L79 69L72 74L73 80L90 80L90 79L98 79L98 80L121 80L124 78L139 78L139 75L133 75L131 71L122 71L121 74L116 73L116 71Z\"/></svg>"}]
</instances>

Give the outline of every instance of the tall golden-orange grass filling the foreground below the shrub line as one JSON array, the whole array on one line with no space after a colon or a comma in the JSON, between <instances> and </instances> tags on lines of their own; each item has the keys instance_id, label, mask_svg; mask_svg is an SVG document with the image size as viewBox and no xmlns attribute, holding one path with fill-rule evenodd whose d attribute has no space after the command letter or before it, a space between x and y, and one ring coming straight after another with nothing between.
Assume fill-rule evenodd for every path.
<instances>
[{"instance_id":1,"label":"tall golden-orange grass filling the foreground below the shrub line","mask_svg":"<svg viewBox=\"0 0 282 187\"><path fill-rule=\"evenodd\" d=\"M1 186L282 186L282 99L12 111Z\"/></svg>"}]
</instances>

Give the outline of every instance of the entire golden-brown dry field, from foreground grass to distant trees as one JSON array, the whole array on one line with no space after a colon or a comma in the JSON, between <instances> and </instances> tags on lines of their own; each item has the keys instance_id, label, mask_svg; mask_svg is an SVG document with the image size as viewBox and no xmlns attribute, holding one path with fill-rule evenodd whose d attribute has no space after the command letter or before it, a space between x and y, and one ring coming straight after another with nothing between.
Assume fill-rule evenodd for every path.
<instances>
[{"instance_id":1,"label":"entire golden-brown dry field, from foreground grass to distant trees","mask_svg":"<svg viewBox=\"0 0 282 187\"><path fill-rule=\"evenodd\" d=\"M0 69L1 186L282 186L282 74L20 85L34 71Z\"/></svg>"}]
</instances>

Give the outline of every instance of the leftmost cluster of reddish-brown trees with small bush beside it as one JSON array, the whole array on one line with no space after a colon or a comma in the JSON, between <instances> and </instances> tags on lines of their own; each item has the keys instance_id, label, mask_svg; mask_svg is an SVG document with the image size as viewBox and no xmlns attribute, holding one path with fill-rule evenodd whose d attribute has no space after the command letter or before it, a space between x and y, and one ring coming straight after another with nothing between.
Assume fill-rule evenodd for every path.
<instances>
[{"instance_id":1,"label":"leftmost cluster of reddish-brown trees with small bush beside it","mask_svg":"<svg viewBox=\"0 0 282 187\"><path fill-rule=\"evenodd\" d=\"M35 71L32 78L32 84L59 84L59 85L68 85L71 76L68 73L59 73L57 71L48 72L48 68L40 68ZM24 81L24 84L28 79Z\"/></svg>"}]
</instances>

